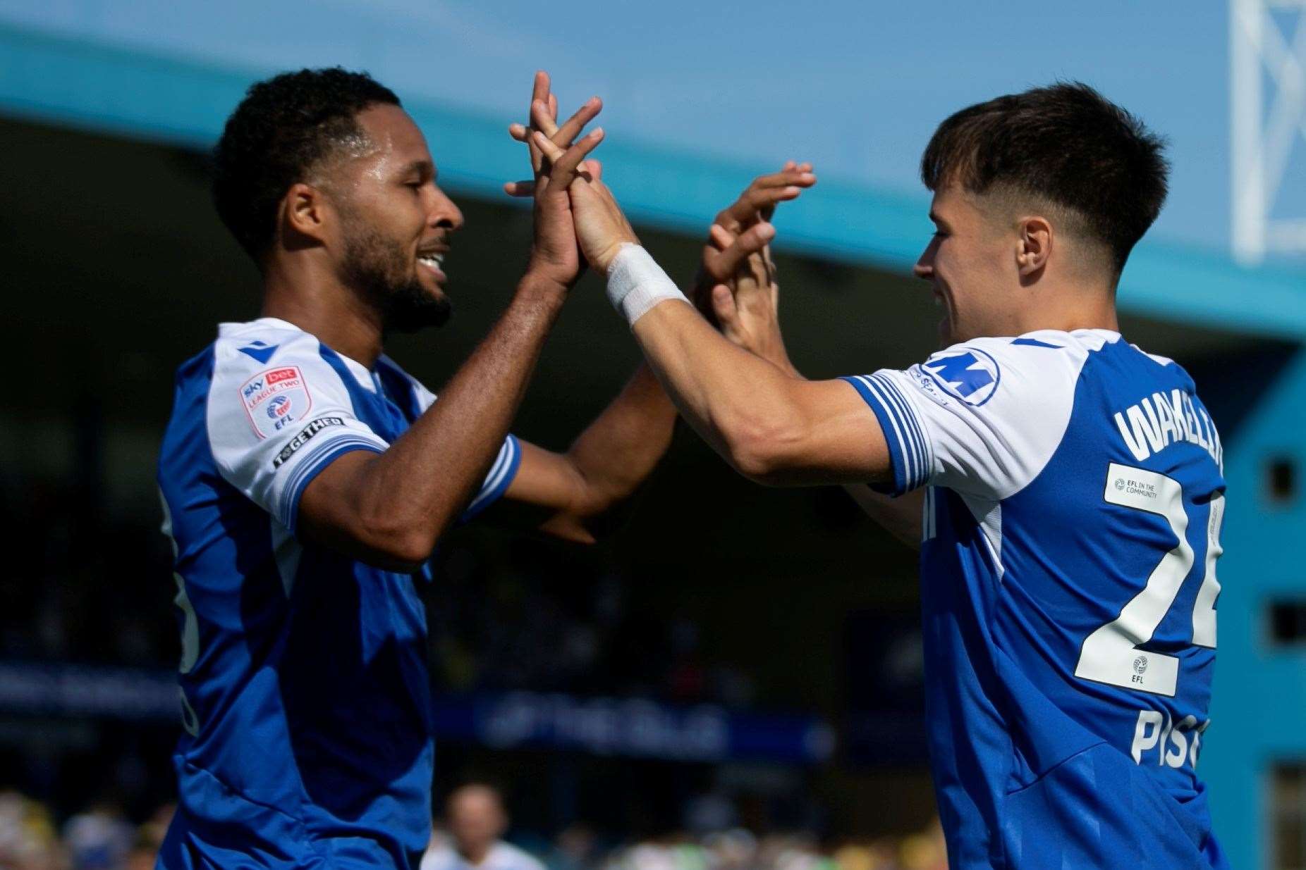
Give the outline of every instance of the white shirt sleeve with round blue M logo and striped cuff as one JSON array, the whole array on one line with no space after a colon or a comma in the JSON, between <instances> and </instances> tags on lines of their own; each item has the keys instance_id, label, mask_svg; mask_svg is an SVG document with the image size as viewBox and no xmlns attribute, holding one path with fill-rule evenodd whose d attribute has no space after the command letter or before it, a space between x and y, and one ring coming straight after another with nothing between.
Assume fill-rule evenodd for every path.
<instances>
[{"instance_id":1,"label":"white shirt sleeve with round blue M logo and striped cuff","mask_svg":"<svg viewBox=\"0 0 1306 870\"><path fill-rule=\"evenodd\" d=\"M1032 481L1060 443L1089 348L1072 334L981 338L905 372L845 378L874 411L895 496L940 485L1002 500Z\"/></svg>"}]
</instances>

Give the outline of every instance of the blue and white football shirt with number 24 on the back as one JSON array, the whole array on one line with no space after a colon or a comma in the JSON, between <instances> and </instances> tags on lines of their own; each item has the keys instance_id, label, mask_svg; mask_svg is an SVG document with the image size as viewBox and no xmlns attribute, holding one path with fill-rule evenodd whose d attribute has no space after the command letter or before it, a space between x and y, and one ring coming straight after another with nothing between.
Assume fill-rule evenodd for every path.
<instances>
[{"instance_id":1,"label":"blue and white football shirt with number 24 on the back","mask_svg":"<svg viewBox=\"0 0 1306 870\"><path fill-rule=\"evenodd\" d=\"M848 381L929 487L926 720L953 870L1225 867L1198 779L1220 436L1106 330L982 338Z\"/></svg>"}]
</instances>

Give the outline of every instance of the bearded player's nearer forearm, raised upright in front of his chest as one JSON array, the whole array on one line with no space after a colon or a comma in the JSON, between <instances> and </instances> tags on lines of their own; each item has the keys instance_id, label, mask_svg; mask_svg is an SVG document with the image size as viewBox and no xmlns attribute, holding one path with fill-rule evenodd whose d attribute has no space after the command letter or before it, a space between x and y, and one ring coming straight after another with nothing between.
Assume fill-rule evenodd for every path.
<instances>
[{"instance_id":1,"label":"bearded player's nearer forearm, raised upright in front of his chest","mask_svg":"<svg viewBox=\"0 0 1306 870\"><path fill-rule=\"evenodd\" d=\"M503 446L564 300L564 288L522 279L440 399L359 476L355 503L366 537L407 561L427 558Z\"/></svg>"}]
</instances>

